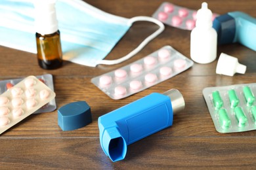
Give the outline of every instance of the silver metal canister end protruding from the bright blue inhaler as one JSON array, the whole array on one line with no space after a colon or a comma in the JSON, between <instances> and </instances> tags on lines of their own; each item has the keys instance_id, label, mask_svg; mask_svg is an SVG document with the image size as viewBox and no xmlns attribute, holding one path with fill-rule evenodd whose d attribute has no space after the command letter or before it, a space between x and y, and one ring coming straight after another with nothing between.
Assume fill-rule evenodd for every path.
<instances>
[{"instance_id":1,"label":"silver metal canister end protruding from the bright blue inhaler","mask_svg":"<svg viewBox=\"0 0 256 170\"><path fill-rule=\"evenodd\" d=\"M185 108L185 101L184 98L177 89L171 89L167 92L163 93L164 95L167 95L171 99L171 106L173 107L173 115L175 115L177 112L180 112L184 110Z\"/></svg>"}]
</instances>

